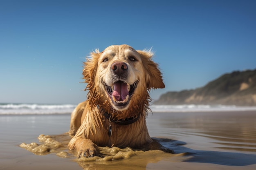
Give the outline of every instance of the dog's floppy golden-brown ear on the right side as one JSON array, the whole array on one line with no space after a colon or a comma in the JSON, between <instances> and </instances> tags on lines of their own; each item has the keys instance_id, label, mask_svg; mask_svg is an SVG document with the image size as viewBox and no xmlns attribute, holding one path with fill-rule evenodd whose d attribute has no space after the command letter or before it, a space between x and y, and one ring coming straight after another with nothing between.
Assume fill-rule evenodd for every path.
<instances>
[{"instance_id":1,"label":"dog's floppy golden-brown ear on the right side","mask_svg":"<svg viewBox=\"0 0 256 170\"><path fill-rule=\"evenodd\" d=\"M146 86L148 90L151 88L164 88L162 73L158 68L158 64L152 61L153 53L151 51L137 51L141 55L142 64L146 73Z\"/></svg>"}]
</instances>

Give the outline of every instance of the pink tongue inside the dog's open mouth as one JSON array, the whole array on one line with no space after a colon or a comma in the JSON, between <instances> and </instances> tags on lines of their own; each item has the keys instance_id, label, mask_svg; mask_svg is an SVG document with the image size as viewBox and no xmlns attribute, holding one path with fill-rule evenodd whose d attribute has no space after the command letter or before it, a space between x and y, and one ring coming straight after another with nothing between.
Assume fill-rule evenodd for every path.
<instances>
[{"instance_id":1,"label":"pink tongue inside the dog's open mouth","mask_svg":"<svg viewBox=\"0 0 256 170\"><path fill-rule=\"evenodd\" d=\"M126 99L126 96L129 95L128 85L124 82L118 81L113 84L114 90L112 92L112 97L115 97L117 101L123 101Z\"/></svg>"}]
</instances>

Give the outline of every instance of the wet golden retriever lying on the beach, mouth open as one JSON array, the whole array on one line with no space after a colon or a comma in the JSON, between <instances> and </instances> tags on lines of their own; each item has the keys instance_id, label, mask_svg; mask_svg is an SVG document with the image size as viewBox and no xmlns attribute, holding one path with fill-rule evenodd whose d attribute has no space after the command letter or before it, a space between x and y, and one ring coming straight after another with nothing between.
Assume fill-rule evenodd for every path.
<instances>
[{"instance_id":1,"label":"wet golden retriever lying on the beach, mouth open","mask_svg":"<svg viewBox=\"0 0 256 170\"><path fill-rule=\"evenodd\" d=\"M146 126L152 88L164 88L162 75L150 51L128 45L96 50L84 62L83 78L88 100L72 112L68 147L78 157L98 155L97 146L163 150Z\"/></svg>"}]
</instances>

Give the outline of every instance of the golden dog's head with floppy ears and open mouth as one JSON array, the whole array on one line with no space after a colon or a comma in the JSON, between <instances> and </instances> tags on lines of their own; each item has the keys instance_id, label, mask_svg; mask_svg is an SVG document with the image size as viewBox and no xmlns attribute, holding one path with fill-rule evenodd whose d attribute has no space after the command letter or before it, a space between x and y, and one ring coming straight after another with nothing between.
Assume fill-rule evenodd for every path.
<instances>
[{"instance_id":1,"label":"golden dog's head with floppy ears and open mouth","mask_svg":"<svg viewBox=\"0 0 256 170\"><path fill-rule=\"evenodd\" d=\"M128 45L112 45L91 53L83 70L90 105L108 104L116 112L127 110L130 105L148 105L148 91L164 88L152 56L150 51L136 51Z\"/></svg>"}]
</instances>

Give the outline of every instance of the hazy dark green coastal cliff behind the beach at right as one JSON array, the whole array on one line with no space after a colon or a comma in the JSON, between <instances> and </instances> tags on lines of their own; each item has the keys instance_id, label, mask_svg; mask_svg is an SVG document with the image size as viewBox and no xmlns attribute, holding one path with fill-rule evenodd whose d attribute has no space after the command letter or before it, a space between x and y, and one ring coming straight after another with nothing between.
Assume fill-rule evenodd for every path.
<instances>
[{"instance_id":1,"label":"hazy dark green coastal cliff behind the beach at right","mask_svg":"<svg viewBox=\"0 0 256 170\"><path fill-rule=\"evenodd\" d=\"M256 69L224 74L201 88L167 92L154 104L256 106Z\"/></svg>"}]
</instances>

